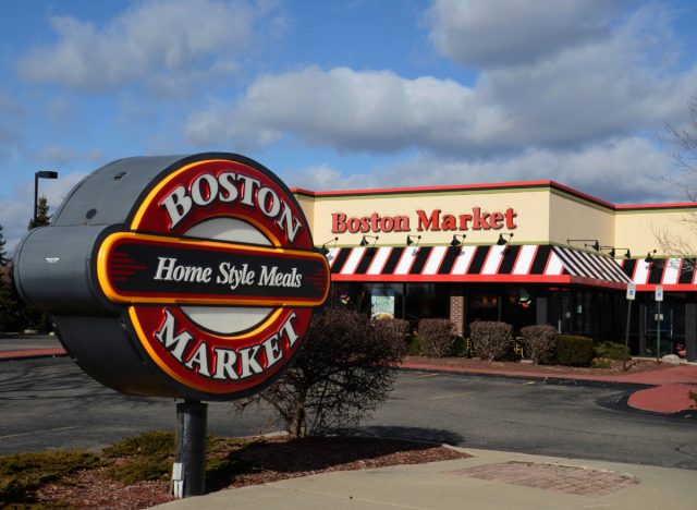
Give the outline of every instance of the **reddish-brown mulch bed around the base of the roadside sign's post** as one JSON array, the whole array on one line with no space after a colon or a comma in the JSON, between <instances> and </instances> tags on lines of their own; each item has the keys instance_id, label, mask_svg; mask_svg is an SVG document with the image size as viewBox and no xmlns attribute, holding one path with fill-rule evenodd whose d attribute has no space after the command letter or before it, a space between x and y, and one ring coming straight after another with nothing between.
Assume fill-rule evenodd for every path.
<instances>
[{"instance_id":1,"label":"reddish-brown mulch bed around the base of the roadside sign's post","mask_svg":"<svg viewBox=\"0 0 697 510\"><path fill-rule=\"evenodd\" d=\"M332 471L420 464L470 457L439 445L401 439L328 437L259 438L246 446L216 453L232 461L207 477L209 491L259 485ZM142 509L171 501L168 482L123 485L105 477L103 469L72 475L68 483L50 484L38 493L45 503L77 509ZM236 472L236 473L235 473Z\"/></svg>"}]
</instances>

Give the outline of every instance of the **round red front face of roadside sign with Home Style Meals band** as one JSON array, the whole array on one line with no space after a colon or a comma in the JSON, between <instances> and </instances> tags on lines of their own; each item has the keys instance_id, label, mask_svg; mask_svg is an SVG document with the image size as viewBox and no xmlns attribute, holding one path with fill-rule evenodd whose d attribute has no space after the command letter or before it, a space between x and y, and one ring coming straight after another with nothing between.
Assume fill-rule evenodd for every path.
<instances>
[{"instance_id":1,"label":"round red front face of roadside sign with Home Style Meals band","mask_svg":"<svg viewBox=\"0 0 697 510\"><path fill-rule=\"evenodd\" d=\"M96 246L99 288L187 397L232 399L297 353L329 267L293 194L236 155L198 155L154 179Z\"/></svg>"}]
</instances>

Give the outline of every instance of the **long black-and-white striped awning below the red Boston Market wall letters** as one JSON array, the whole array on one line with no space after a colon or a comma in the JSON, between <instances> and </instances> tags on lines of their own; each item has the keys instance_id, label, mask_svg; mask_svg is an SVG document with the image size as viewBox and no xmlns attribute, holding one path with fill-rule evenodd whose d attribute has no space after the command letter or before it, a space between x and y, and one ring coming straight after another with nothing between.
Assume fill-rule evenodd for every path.
<instances>
[{"instance_id":1,"label":"long black-and-white striped awning below the red Boston Market wall letters","mask_svg":"<svg viewBox=\"0 0 697 510\"><path fill-rule=\"evenodd\" d=\"M612 258L551 245L341 247L327 259L334 281L586 284L624 289Z\"/></svg>"}]
</instances>

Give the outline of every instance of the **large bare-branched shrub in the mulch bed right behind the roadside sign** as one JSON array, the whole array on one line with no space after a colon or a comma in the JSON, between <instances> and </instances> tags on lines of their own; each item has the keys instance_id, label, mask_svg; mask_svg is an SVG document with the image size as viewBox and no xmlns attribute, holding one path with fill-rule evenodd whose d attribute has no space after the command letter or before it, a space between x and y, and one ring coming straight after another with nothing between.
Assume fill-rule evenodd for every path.
<instances>
[{"instance_id":1,"label":"large bare-branched shrub in the mulch bed right behind the roadside sign","mask_svg":"<svg viewBox=\"0 0 697 510\"><path fill-rule=\"evenodd\" d=\"M407 323L325 308L313 316L297 360L274 384L237 401L269 403L296 437L351 428L392 390Z\"/></svg>"}]
</instances>

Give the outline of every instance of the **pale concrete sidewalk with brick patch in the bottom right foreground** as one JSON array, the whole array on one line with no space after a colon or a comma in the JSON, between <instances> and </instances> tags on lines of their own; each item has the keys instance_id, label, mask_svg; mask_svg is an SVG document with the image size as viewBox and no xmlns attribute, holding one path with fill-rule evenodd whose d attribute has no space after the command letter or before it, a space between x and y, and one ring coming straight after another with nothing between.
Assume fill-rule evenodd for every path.
<instances>
[{"instance_id":1,"label":"pale concrete sidewalk with brick patch in the bottom right foreground","mask_svg":"<svg viewBox=\"0 0 697 510\"><path fill-rule=\"evenodd\" d=\"M463 449L455 461L343 471L159 506L198 509L694 509L695 472Z\"/></svg>"}]
</instances>

